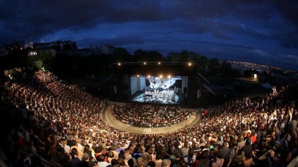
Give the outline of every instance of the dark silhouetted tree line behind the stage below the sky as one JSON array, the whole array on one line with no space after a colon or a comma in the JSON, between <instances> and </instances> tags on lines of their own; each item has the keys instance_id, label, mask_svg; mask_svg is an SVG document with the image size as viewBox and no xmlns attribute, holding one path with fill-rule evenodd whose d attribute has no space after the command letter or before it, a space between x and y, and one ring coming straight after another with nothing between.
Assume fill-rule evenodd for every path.
<instances>
[{"instance_id":1,"label":"dark silhouetted tree line behind the stage below the sky","mask_svg":"<svg viewBox=\"0 0 298 167\"><path fill-rule=\"evenodd\" d=\"M77 48L76 43L73 42L72 44L73 48ZM15 67L46 69L62 78L66 78L85 77L91 74L102 76L113 73L113 69L108 69L108 66L114 62L192 62L201 66L201 68L198 68L198 71L204 76L240 77L240 73L233 69L228 61L207 58L204 55L188 50L170 52L166 56L163 56L158 51L145 51L141 49L137 49L131 54L125 48L118 47L111 54L89 56L58 54L54 57L42 51L36 56L28 56L30 51L32 49L12 50L9 55L0 57L0 66L6 69Z\"/></svg>"}]
</instances>

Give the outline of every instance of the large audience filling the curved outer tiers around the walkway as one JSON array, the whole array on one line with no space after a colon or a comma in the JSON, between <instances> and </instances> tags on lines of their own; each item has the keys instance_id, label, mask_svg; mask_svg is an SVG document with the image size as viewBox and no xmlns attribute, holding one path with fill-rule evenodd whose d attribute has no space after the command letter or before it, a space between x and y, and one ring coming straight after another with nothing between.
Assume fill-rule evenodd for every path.
<instances>
[{"instance_id":1,"label":"large audience filling the curved outer tiers around the walkway","mask_svg":"<svg viewBox=\"0 0 298 167\"><path fill-rule=\"evenodd\" d=\"M286 166L298 154L296 82L156 135L111 128L99 117L104 101L49 72L1 86L0 114L11 113L3 122L16 119L1 127L2 159L11 166L42 166L40 157L61 166Z\"/></svg>"}]
</instances>

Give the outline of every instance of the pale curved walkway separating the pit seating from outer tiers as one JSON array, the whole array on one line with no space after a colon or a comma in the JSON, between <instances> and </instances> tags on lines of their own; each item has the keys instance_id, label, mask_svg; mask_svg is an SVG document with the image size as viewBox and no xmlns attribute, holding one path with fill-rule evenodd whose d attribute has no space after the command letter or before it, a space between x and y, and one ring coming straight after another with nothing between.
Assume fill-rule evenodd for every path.
<instances>
[{"instance_id":1,"label":"pale curved walkway separating the pit seating from outer tiers","mask_svg":"<svg viewBox=\"0 0 298 167\"><path fill-rule=\"evenodd\" d=\"M160 128L138 128L138 127L132 127L129 126L118 119L116 119L113 114L111 113L110 106L116 103L117 105L125 105L125 103L119 103L119 102L113 102L108 101L108 105L106 106L105 110L102 112L101 119L109 124L111 127L127 131L127 132L133 132L133 133L141 133L141 134L158 134L158 133L171 133L180 131L183 129L188 129L192 127L194 124L196 124L200 120L200 114L195 112L195 109L183 109L181 110L191 110L193 111L191 117L188 120L185 120L181 123L174 124L170 127L160 127Z\"/></svg>"}]
</instances>

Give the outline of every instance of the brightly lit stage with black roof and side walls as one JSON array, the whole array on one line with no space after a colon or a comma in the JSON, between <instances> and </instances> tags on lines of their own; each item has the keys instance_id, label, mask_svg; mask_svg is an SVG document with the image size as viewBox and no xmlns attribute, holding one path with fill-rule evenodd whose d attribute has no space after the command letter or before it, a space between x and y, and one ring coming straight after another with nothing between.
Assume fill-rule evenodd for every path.
<instances>
[{"instance_id":1,"label":"brightly lit stage with black roof and side walls","mask_svg":"<svg viewBox=\"0 0 298 167\"><path fill-rule=\"evenodd\" d=\"M115 82L110 87L109 99L197 107L197 92L202 91L197 69L197 64L180 62L114 64ZM174 91L175 95L161 91Z\"/></svg>"}]
</instances>

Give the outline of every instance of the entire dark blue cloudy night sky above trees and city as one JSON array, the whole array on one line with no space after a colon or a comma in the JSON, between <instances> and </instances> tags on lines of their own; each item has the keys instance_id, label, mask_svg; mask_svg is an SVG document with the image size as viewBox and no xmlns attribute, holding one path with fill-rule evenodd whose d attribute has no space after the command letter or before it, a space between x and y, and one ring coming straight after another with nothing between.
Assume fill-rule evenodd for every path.
<instances>
[{"instance_id":1,"label":"entire dark blue cloudy night sky above trees and city","mask_svg":"<svg viewBox=\"0 0 298 167\"><path fill-rule=\"evenodd\" d=\"M298 70L297 1L0 1L0 45L75 40Z\"/></svg>"}]
</instances>

